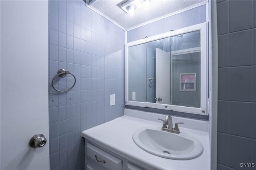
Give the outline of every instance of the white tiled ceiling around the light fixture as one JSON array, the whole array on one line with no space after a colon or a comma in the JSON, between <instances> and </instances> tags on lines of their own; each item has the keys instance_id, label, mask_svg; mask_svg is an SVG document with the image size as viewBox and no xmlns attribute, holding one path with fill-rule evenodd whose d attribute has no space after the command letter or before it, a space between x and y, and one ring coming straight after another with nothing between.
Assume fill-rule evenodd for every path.
<instances>
[{"instance_id":1,"label":"white tiled ceiling around the light fixture","mask_svg":"<svg viewBox=\"0 0 256 170\"><path fill-rule=\"evenodd\" d=\"M147 9L135 10L134 16L130 16L117 6L126 0L96 0L90 4L90 8L103 14L110 20L116 22L124 29L130 29L137 25L155 20L172 13L197 6L206 0L151 0Z\"/></svg>"}]
</instances>

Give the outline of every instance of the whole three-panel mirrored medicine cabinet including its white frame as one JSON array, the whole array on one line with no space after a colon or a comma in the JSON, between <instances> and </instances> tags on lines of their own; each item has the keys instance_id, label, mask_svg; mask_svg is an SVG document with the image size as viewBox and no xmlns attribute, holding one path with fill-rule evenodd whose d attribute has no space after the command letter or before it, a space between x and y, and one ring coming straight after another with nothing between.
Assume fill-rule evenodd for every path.
<instances>
[{"instance_id":1,"label":"whole three-panel mirrored medicine cabinet including its white frame","mask_svg":"<svg viewBox=\"0 0 256 170\"><path fill-rule=\"evenodd\" d=\"M207 23L125 47L125 103L207 115Z\"/></svg>"}]
</instances>

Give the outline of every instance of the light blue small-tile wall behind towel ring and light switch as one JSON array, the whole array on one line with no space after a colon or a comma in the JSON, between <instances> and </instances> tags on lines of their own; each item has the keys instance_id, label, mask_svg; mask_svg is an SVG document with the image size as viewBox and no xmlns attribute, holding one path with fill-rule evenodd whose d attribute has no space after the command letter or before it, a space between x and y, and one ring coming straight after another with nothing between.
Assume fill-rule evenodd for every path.
<instances>
[{"instance_id":1,"label":"light blue small-tile wall behind towel ring and light switch","mask_svg":"<svg viewBox=\"0 0 256 170\"><path fill-rule=\"evenodd\" d=\"M50 0L49 8L50 168L84 170L82 131L124 115L125 32L83 1ZM60 68L76 76L68 92L51 86ZM73 82L69 74L54 86L65 90Z\"/></svg>"}]
</instances>

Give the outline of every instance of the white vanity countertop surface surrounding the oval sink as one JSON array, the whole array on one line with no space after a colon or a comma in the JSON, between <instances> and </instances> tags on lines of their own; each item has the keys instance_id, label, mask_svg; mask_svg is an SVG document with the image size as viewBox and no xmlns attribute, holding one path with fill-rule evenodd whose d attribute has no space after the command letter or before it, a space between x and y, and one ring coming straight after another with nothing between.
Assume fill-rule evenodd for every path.
<instances>
[{"instance_id":1,"label":"white vanity countertop surface surrounding the oval sink","mask_svg":"<svg viewBox=\"0 0 256 170\"><path fill-rule=\"evenodd\" d=\"M175 120L175 117L173 118ZM175 122L176 121L173 121L173 123ZM140 149L132 140L132 135L136 130L152 126L161 129L162 123L139 119L127 116L126 114L102 125L83 131L82 137L145 168L151 167L151 169L161 170L210 169L210 144L208 132L182 128L181 125L179 127L180 132L186 132L196 137L202 143L204 152L198 158L191 160L172 160L150 154Z\"/></svg>"}]
</instances>

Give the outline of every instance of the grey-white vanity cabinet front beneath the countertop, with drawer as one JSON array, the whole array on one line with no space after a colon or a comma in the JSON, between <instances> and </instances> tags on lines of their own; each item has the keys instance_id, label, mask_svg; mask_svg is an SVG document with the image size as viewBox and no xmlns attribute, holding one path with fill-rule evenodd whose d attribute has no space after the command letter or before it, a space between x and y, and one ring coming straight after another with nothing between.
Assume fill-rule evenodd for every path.
<instances>
[{"instance_id":1,"label":"grey-white vanity cabinet front beneath the countertop, with drawer","mask_svg":"<svg viewBox=\"0 0 256 170\"><path fill-rule=\"evenodd\" d=\"M144 170L88 140L85 143L85 163L87 170Z\"/></svg>"}]
</instances>

